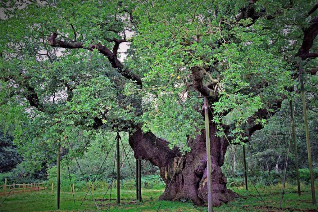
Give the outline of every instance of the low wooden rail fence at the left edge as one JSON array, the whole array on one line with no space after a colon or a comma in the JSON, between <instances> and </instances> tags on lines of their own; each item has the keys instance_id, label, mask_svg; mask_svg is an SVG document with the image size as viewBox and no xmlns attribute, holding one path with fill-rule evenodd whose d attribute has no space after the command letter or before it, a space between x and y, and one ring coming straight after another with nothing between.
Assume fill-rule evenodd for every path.
<instances>
[{"instance_id":1,"label":"low wooden rail fence at the left edge","mask_svg":"<svg viewBox=\"0 0 318 212\"><path fill-rule=\"evenodd\" d=\"M12 191L11 191L11 189L12 189ZM43 190L43 189L46 189L43 186L43 182L23 183L23 184L16 184L14 186L14 184L7 185L7 178L5 178L3 186L0 186L0 191L2 191L0 193L0 195L7 195L10 191L11 191L11 194L14 194L14 193L21 193L21 192L25 193L25 192L29 192L29 191L39 191L39 190Z\"/></svg>"}]
</instances>

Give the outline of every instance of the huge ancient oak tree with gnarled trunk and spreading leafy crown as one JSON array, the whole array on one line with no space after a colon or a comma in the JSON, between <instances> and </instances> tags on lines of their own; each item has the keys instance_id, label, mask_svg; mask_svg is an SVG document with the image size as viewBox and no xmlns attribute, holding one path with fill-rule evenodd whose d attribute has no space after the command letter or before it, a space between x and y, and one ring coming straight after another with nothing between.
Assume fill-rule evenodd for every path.
<instances>
[{"instance_id":1,"label":"huge ancient oak tree with gnarled trunk and spreading leafy crown","mask_svg":"<svg viewBox=\"0 0 318 212\"><path fill-rule=\"evenodd\" d=\"M8 0L0 7L1 118L20 126L24 157L37 150L32 157L46 160L56 141L67 146L79 132L127 131L135 157L171 181L161 199L207 201L200 96L211 106L219 206L237 196L221 171L229 144L247 142L277 112L300 67L317 72L315 1Z\"/></svg>"}]
</instances>

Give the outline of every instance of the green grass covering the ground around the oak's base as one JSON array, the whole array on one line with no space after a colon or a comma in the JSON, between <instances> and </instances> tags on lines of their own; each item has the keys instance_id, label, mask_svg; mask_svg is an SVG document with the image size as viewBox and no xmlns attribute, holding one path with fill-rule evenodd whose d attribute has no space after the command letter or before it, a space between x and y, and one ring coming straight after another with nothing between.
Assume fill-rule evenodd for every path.
<instances>
[{"instance_id":1,"label":"green grass covering the ground around the oak's base","mask_svg":"<svg viewBox=\"0 0 318 212\"><path fill-rule=\"evenodd\" d=\"M279 211L281 185L272 185L271 188L266 187L265 191L259 188L259 192L264 199L269 211ZM318 205L312 205L310 187L302 185L302 195L297 195L297 188L295 186L287 185L285 195L282 202L281 211L318 211ZM264 203L257 194L256 190L250 185L248 191L243 191L243 188L235 191L242 195L233 202L222 205L221 207L214 207L214 211L267 211ZM135 191L122 190L120 206L116 205L116 190L112 191L112 200L110 202L110 211L113 212L155 212L157 211L160 202L158 196L162 194L163 190L143 190L143 202L140 204L135 203ZM97 211L90 194L87 195L84 203L80 206L85 192L76 192L74 206L72 193L62 192L60 197L60 211ZM104 195L103 192L94 192L95 199L101 199ZM100 205L100 211L108 210L107 201L103 201ZM2 202L4 197L0 197ZM51 194L50 191L29 192L25 194L13 194L3 203L0 211L54 211L56 209L56 195ZM97 202L97 201L96 201ZM99 204L99 202L97 202ZM177 202L177 201L163 201L161 211L167 212L198 212L207 211L206 207L197 207L191 202Z\"/></svg>"}]
</instances>

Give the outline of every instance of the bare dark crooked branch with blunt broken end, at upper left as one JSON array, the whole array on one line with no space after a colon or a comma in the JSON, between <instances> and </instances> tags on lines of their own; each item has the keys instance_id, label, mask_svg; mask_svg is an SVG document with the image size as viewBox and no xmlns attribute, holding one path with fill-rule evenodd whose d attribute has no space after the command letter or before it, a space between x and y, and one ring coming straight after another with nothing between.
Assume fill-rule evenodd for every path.
<instances>
[{"instance_id":1,"label":"bare dark crooked branch with blunt broken end, at upper left","mask_svg":"<svg viewBox=\"0 0 318 212\"><path fill-rule=\"evenodd\" d=\"M120 72L123 77L135 81L137 85L140 85L142 87L142 81L140 76L138 76L137 74L125 68L124 65L118 60L117 55L114 54L112 51L110 51L106 46L100 43L90 44L89 46L85 46L84 43L81 43L81 42L69 42L69 41L56 40L57 36L58 34L55 32L50 35L50 37L48 38L50 46L66 48L66 49L87 49L89 51L93 51L94 49L97 49L101 54L107 57L112 67L117 68L118 72ZM117 53L117 51L115 51L115 53Z\"/></svg>"}]
</instances>

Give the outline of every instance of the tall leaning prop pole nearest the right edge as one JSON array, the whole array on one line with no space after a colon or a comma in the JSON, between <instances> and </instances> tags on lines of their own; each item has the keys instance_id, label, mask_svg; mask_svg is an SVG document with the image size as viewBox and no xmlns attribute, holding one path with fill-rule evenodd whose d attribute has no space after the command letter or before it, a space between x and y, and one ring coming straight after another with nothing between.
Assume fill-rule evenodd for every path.
<instances>
[{"instance_id":1,"label":"tall leaning prop pole nearest the right edge","mask_svg":"<svg viewBox=\"0 0 318 212\"><path fill-rule=\"evenodd\" d=\"M311 161L311 151L310 151L310 143L309 143L309 130L308 130L308 119L307 119L307 108L305 101L305 90L304 90L304 82L303 82L303 73L300 73L300 87L301 87L301 97L302 97L302 107L304 111L304 121L305 121L305 130L306 130L306 142L307 142L307 152L308 152L308 164L309 164L309 172L310 172L310 184L311 184L311 196L313 198L313 204L316 204L316 195L315 195L315 184L314 184L314 173L313 173L313 165Z\"/></svg>"}]
</instances>

